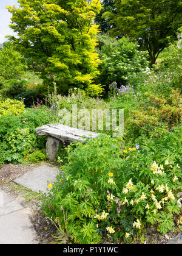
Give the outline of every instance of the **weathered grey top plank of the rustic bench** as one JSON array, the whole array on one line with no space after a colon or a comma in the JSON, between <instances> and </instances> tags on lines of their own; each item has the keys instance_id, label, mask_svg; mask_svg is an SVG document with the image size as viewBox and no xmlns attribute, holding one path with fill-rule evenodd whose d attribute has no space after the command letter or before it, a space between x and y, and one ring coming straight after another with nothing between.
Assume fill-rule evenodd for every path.
<instances>
[{"instance_id":1,"label":"weathered grey top plank of the rustic bench","mask_svg":"<svg viewBox=\"0 0 182 256\"><path fill-rule=\"evenodd\" d=\"M84 138L96 138L99 135L99 133L64 126L62 124L47 124L46 126L37 128L36 133L38 135L48 135L50 137L57 138L58 140L61 141L78 141L81 143L84 143Z\"/></svg>"}]
</instances>

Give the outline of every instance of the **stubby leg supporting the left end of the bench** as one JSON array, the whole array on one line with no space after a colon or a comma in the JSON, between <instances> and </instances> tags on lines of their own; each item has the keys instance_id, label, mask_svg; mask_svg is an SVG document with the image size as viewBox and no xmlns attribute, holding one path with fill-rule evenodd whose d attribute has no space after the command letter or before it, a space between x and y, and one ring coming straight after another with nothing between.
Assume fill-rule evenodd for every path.
<instances>
[{"instance_id":1,"label":"stubby leg supporting the left end of the bench","mask_svg":"<svg viewBox=\"0 0 182 256\"><path fill-rule=\"evenodd\" d=\"M46 153L50 161L55 160L56 155L58 153L58 149L59 149L59 143L60 141L58 139L50 136L47 137Z\"/></svg>"}]
</instances>

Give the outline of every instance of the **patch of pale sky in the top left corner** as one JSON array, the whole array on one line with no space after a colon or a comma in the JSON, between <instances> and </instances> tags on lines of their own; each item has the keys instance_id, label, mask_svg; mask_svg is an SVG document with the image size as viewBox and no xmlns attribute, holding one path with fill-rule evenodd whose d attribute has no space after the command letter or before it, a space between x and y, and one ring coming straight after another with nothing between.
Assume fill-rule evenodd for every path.
<instances>
[{"instance_id":1,"label":"patch of pale sky in the top left corner","mask_svg":"<svg viewBox=\"0 0 182 256\"><path fill-rule=\"evenodd\" d=\"M4 43L7 40L5 35L16 35L13 30L8 27L12 14L5 9L7 5L18 6L18 0L0 0L0 43Z\"/></svg>"}]
</instances>

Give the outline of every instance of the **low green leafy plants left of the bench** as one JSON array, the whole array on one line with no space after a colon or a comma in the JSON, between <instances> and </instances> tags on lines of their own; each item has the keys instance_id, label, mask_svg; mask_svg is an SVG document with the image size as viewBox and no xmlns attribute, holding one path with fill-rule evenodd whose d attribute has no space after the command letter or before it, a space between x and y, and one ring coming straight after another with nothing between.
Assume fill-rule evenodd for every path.
<instances>
[{"instance_id":1,"label":"low green leafy plants left of the bench","mask_svg":"<svg viewBox=\"0 0 182 256\"><path fill-rule=\"evenodd\" d=\"M45 159L45 155L42 152L39 154L39 149L45 149L46 137L38 137L36 128L49 123L51 116L50 110L45 106L41 106L36 110L27 108L19 116L0 116L1 164L29 161L29 156L31 153L33 154L33 149L38 152L30 157L32 162L36 162L38 158L39 160Z\"/></svg>"}]
</instances>

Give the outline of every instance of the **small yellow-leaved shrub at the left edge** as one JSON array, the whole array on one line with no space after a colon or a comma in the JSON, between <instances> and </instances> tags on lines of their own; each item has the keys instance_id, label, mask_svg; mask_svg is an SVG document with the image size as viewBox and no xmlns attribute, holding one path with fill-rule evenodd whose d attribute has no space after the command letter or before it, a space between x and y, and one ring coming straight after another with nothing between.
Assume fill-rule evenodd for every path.
<instances>
[{"instance_id":1,"label":"small yellow-leaved shrub at the left edge","mask_svg":"<svg viewBox=\"0 0 182 256\"><path fill-rule=\"evenodd\" d=\"M6 115L17 115L25 112L25 105L23 102L13 99L5 99L0 101L0 117Z\"/></svg>"}]
</instances>

